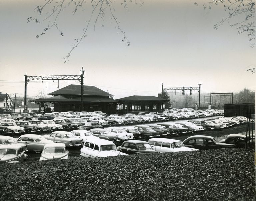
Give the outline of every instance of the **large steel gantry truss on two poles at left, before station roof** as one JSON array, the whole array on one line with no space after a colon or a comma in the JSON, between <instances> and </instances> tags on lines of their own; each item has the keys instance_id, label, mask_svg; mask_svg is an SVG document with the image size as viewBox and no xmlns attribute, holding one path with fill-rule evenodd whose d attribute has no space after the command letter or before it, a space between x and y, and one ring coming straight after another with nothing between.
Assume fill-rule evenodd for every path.
<instances>
[{"instance_id":1,"label":"large steel gantry truss on two poles at left, before station roof","mask_svg":"<svg viewBox=\"0 0 256 201\"><path fill-rule=\"evenodd\" d=\"M84 70L82 67L81 75L41 75L41 76L27 76L27 72L25 74L25 93L24 93L24 105L27 105L27 84L29 81L38 81L38 80L46 80L46 88L48 80L78 80L81 84L81 107L80 110L83 111L83 94L84 94ZM59 88L59 85L58 85Z\"/></svg>"}]
</instances>

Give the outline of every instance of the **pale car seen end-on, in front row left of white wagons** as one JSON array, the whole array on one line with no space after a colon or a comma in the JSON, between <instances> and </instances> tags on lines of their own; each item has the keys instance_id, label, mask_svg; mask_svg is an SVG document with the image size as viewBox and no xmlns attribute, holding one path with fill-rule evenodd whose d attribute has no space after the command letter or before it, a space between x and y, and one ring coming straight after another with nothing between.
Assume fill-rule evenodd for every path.
<instances>
[{"instance_id":1,"label":"pale car seen end-on, in front row left of white wagons","mask_svg":"<svg viewBox=\"0 0 256 201\"><path fill-rule=\"evenodd\" d=\"M39 161L68 159L68 150L64 143L49 143L44 146Z\"/></svg>"}]
</instances>

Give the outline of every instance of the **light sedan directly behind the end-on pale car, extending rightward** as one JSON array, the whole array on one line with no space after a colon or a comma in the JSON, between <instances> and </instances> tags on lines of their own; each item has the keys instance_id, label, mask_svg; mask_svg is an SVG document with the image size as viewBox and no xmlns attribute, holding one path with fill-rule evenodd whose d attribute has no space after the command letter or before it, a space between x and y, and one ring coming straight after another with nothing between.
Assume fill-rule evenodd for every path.
<instances>
[{"instance_id":1,"label":"light sedan directly behind the end-on pale car, extending rightward","mask_svg":"<svg viewBox=\"0 0 256 201\"><path fill-rule=\"evenodd\" d=\"M76 147L82 145L82 139L68 131L54 131L50 135L44 135L45 139L57 143L64 143L66 147Z\"/></svg>"}]
</instances>

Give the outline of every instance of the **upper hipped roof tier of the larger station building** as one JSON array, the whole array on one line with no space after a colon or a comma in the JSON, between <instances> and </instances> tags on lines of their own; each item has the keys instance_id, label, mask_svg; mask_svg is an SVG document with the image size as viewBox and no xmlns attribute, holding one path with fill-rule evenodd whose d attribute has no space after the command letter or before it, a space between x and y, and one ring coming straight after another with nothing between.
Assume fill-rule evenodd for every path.
<instances>
[{"instance_id":1,"label":"upper hipped roof tier of the larger station building","mask_svg":"<svg viewBox=\"0 0 256 201\"><path fill-rule=\"evenodd\" d=\"M50 95L81 95L81 85L70 84L62 89L49 93ZM95 86L84 85L84 96L113 96Z\"/></svg>"}]
</instances>

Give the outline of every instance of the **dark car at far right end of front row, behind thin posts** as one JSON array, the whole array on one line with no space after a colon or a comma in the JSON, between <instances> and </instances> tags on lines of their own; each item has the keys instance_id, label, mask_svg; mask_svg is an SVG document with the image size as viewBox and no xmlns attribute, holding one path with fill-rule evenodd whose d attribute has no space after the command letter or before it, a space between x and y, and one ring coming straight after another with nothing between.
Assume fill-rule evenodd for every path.
<instances>
[{"instance_id":1,"label":"dark car at far right end of front row, behind thin posts","mask_svg":"<svg viewBox=\"0 0 256 201\"><path fill-rule=\"evenodd\" d=\"M235 144L236 147L245 147L246 136L242 134L229 134L221 143ZM255 146L255 135L247 135L247 144Z\"/></svg>"}]
</instances>

